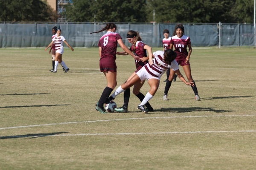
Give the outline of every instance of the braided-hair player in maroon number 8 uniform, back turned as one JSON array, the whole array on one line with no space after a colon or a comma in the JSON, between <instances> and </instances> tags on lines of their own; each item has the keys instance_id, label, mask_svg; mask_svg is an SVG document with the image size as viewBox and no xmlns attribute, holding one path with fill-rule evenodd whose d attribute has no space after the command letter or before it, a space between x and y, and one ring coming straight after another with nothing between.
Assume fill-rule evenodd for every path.
<instances>
[{"instance_id":1,"label":"braided-hair player in maroon number 8 uniform, back turned","mask_svg":"<svg viewBox=\"0 0 256 170\"><path fill-rule=\"evenodd\" d=\"M114 23L108 23L106 26L97 32L92 33L98 33L107 30L107 33L104 34L99 39L99 68L100 71L103 72L107 79L107 87L103 90L102 95L99 99L99 102L96 104L96 110L100 113L107 113L105 111L105 108L103 105L106 103L106 100L108 99L109 95L113 91L113 89L116 87L116 48L117 43L121 46L121 48L128 54L130 54L132 57L134 57L135 60L139 61L139 57L135 56L129 48L125 46L125 44L122 41L122 37L116 33L116 25ZM92 34L90 33L90 34Z\"/></svg>"}]
</instances>

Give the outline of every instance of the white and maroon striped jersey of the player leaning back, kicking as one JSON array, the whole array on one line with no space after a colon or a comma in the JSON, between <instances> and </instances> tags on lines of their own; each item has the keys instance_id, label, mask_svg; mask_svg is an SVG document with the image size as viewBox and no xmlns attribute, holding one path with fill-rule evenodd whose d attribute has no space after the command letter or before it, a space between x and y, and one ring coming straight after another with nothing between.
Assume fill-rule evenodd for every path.
<instances>
[{"instance_id":1,"label":"white and maroon striped jersey of the player leaning back, kicking","mask_svg":"<svg viewBox=\"0 0 256 170\"><path fill-rule=\"evenodd\" d=\"M166 64L163 60L163 53L164 51L155 51L153 53L153 65L149 65L148 63L144 66L148 74L151 74L154 77L161 77L169 68L172 68L174 71L179 69L179 65L176 60L173 60L170 65Z\"/></svg>"}]
</instances>

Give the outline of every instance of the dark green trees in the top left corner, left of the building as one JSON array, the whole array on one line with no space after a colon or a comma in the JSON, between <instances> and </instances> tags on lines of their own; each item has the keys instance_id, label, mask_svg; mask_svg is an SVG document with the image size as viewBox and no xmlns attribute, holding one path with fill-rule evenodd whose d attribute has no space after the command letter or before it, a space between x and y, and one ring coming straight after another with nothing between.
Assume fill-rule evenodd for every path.
<instances>
[{"instance_id":1,"label":"dark green trees in the top left corner, left of the building","mask_svg":"<svg viewBox=\"0 0 256 170\"><path fill-rule=\"evenodd\" d=\"M0 0L0 21L53 21L57 15L42 0Z\"/></svg>"}]
</instances>

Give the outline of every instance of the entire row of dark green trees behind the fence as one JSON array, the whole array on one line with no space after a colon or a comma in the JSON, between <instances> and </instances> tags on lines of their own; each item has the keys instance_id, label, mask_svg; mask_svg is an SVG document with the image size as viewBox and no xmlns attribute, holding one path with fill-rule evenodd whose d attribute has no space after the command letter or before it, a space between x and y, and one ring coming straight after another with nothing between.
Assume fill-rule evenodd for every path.
<instances>
[{"instance_id":1,"label":"entire row of dark green trees behind the fence","mask_svg":"<svg viewBox=\"0 0 256 170\"><path fill-rule=\"evenodd\" d=\"M253 23L253 0L73 0L68 22ZM46 0L0 0L0 21L56 22Z\"/></svg>"}]
</instances>

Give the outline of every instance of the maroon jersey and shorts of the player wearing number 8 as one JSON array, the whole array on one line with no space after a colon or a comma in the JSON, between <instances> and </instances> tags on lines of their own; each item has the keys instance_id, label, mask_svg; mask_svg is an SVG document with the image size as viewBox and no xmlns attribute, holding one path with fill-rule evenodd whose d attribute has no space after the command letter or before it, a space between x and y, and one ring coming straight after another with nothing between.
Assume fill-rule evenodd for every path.
<instances>
[{"instance_id":1,"label":"maroon jersey and shorts of the player wearing number 8","mask_svg":"<svg viewBox=\"0 0 256 170\"><path fill-rule=\"evenodd\" d=\"M98 46L102 48L99 59L100 71L116 72L116 48L119 39L122 39L122 37L111 31L108 31L99 39Z\"/></svg>"}]
</instances>

